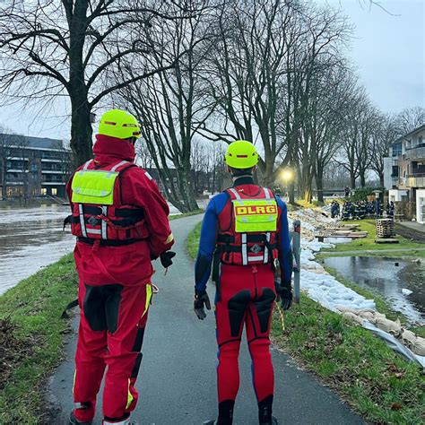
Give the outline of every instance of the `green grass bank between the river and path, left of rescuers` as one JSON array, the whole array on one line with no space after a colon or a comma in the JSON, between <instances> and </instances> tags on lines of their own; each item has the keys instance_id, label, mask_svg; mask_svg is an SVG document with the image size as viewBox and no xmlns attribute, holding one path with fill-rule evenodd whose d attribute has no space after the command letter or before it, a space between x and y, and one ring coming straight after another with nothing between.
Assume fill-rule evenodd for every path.
<instances>
[{"instance_id":1,"label":"green grass bank between the river and path, left of rescuers","mask_svg":"<svg viewBox=\"0 0 425 425\"><path fill-rule=\"evenodd\" d=\"M0 320L10 319L13 325L4 338L17 346L8 358L12 372L0 391L0 423L47 423L42 388L61 359L68 329L61 314L76 294L74 258L69 255L0 297ZM23 355L22 347L26 348Z\"/></svg>"}]
</instances>

